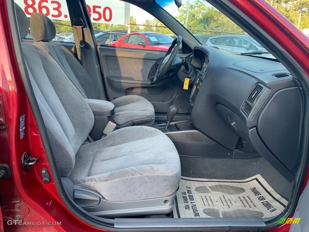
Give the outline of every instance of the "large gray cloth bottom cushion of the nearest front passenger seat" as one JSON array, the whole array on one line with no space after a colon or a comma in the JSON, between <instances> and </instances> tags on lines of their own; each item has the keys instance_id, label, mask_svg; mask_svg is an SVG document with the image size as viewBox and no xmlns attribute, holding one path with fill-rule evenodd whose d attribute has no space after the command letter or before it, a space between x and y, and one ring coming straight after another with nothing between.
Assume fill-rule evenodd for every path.
<instances>
[{"instance_id":1,"label":"large gray cloth bottom cushion of the nearest front passenger seat","mask_svg":"<svg viewBox=\"0 0 309 232\"><path fill-rule=\"evenodd\" d=\"M180 160L172 141L152 127L125 127L91 144L75 158L71 181L109 201L158 198L180 183Z\"/></svg>"}]
</instances>

